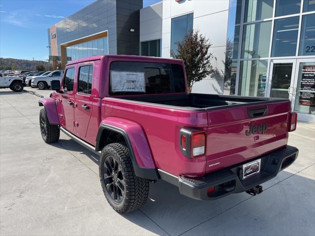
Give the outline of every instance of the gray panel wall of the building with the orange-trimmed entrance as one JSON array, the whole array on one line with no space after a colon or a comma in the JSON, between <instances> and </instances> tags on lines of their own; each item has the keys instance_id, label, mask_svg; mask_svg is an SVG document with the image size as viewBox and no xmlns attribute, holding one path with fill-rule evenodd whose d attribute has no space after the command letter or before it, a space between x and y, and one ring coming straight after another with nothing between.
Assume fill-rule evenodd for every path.
<instances>
[{"instance_id":1,"label":"gray panel wall of the building with the orange-trimmed entrance","mask_svg":"<svg viewBox=\"0 0 315 236\"><path fill-rule=\"evenodd\" d=\"M141 8L142 0L97 0L67 17L56 24L58 56L60 44L105 30L108 30L109 54L139 55Z\"/></svg>"}]
</instances>

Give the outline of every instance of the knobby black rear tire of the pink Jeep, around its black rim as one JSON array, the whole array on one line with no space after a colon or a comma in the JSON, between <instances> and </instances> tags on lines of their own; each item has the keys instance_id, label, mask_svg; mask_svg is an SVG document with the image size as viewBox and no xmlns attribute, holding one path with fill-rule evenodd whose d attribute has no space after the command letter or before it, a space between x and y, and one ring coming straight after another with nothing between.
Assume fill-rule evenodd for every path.
<instances>
[{"instance_id":1,"label":"knobby black rear tire of the pink Jeep, around its black rim","mask_svg":"<svg viewBox=\"0 0 315 236\"><path fill-rule=\"evenodd\" d=\"M118 165L120 165L118 168L121 169L120 173L122 173L125 180L125 196L122 197L121 202L114 201L105 186L106 174L104 175L104 171L106 172L106 170L104 168L104 162L108 160L110 156L115 158ZM131 212L141 207L147 201L149 195L149 180L135 176L129 149L126 147L125 143L112 143L102 149L99 162L99 177L105 198L115 211L119 213ZM114 178L112 179L114 182Z\"/></svg>"}]
</instances>

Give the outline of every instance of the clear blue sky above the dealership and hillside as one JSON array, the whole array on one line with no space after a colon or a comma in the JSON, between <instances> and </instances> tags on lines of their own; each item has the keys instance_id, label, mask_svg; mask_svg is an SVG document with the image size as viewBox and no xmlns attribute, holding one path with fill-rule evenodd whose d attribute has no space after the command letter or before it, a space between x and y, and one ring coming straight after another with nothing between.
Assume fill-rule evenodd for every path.
<instances>
[{"instance_id":1,"label":"clear blue sky above the dealership and hillside","mask_svg":"<svg viewBox=\"0 0 315 236\"><path fill-rule=\"evenodd\" d=\"M0 57L48 59L47 29L95 0L0 0ZM143 6L160 0L143 0Z\"/></svg>"}]
</instances>

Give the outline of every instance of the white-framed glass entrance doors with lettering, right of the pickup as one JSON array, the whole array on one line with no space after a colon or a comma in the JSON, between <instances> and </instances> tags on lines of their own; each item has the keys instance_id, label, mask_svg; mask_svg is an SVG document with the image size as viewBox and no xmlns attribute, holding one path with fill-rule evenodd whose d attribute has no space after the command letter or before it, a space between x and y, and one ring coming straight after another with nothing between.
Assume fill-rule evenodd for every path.
<instances>
[{"instance_id":1,"label":"white-framed glass entrance doors with lettering, right of the pickup","mask_svg":"<svg viewBox=\"0 0 315 236\"><path fill-rule=\"evenodd\" d=\"M315 60L274 59L270 64L267 97L286 98L298 120L315 122Z\"/></svg>"}]
</instances>

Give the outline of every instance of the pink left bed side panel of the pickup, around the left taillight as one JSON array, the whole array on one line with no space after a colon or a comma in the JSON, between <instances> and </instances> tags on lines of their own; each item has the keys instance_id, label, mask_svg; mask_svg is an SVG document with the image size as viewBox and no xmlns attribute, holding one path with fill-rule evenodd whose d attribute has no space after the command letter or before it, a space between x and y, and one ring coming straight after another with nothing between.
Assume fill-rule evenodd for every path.
<instances>
[{"instance_id":1,"label":"pink left bed side panel of the pickup, around the left taillight","mask_svg":"<svg viewBox=\"0 0 315 236\"><path fill-rule=\"evenodd\" d=\"M103 98L102 119L114 117L127 118L129 122L141 124L141 131L145 133L147 142L150 144L157 169L175 176L183 173L189 176L205 174L205 156L192 159L185 157L181 152L180 129L206 130L208 126L207 112L174 110L121 99ZM125 123L121 122L121 125L125 125ZM133 141L137 142L134 139Z\"/></svg>"}]
</instances>

